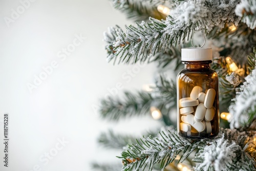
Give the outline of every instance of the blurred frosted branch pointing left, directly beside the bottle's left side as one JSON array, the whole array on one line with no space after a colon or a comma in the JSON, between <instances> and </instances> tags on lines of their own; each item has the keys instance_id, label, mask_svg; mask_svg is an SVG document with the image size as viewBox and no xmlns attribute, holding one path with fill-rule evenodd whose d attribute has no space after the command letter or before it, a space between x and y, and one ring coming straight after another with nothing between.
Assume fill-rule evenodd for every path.
<instances>
[{"instance_id":1,"label":"blurred frosted branch pointing left, directly beside the bottle's left side","mask_svg":"<svg viewBox=\"0 0 256 171\"><path fill-rule=\"evenodd\" d=\"M114 97L102 99L99 112L103 118L117 121L124 117L149 114L151 106L155 106L163 114L165 124L172 124L168 112L176 108L176 84L160 76L153 90L151 93L141 91L137 94L126 91L122 100Z\"/></svg>"}]
</instances>

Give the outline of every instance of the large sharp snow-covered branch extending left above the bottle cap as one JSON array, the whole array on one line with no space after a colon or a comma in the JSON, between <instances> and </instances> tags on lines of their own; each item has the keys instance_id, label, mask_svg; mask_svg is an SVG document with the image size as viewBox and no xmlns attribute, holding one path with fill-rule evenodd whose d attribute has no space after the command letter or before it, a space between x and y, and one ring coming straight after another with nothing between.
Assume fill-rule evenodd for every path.
<instances>
[{"instance_id":1,"label":"large sharp snow-covered branch extending left above the bottle cap","mask_svg":"<svg viewBox=\"0 0 256 171\"><path fill-rule=\"evenodd\" d=\"M226 7L223 8L223 5ZM181 2L166 20L150 18L151 23L137 23L136 26L126 27L125 32L117 29L114 56L125 62L131 58L134 58L133 62L144 61L150 53L154 56L167 46L180 44L191 35L191 30L205 29L209 32L214 26L224 28L228 22L237 25L240 18L233 11L236 5L234 2ZM191 15L191 9L197 12ZM190 15L187 16L187 13Z\"/></svg>"}]
</instances>

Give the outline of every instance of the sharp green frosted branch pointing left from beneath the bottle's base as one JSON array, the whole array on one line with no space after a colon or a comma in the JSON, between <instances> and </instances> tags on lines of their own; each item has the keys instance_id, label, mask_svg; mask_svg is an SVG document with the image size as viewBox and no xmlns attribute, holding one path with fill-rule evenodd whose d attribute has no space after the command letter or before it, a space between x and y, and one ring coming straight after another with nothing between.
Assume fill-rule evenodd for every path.
<instances>
[{"instance_id":1,"label":"sharp green frosted branch pointing left from beneath the bottle's base","mask_svg":"<svg viewBox=\"0 0 256 171\"><path fill-rule=\"evenodd\" d=\"M181 152L180 162L201 144L200 141L183 139L176 133L160 133L161 138L152 136L138 141L138 145L130 145L130 150L122 153L124 166L122 170L139 170L148 165L152 170L156 163L161 163L161 168L173 162Z\"/></svg>"}]
</instances>

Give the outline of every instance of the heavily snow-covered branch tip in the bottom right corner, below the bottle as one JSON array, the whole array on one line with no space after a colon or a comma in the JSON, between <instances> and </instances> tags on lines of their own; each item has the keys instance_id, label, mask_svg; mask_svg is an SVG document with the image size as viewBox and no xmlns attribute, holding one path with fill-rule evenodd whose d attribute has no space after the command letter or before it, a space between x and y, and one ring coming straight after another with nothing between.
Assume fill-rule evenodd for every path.
<instances>
[{"instance_id":1,"label":"heavily snow-covered branch tip in the bottom right corner, below the bottle","mask_svg":"<svg viewBox=\"0 0 256 171\"><path fill-rule=\"evenodd\" d=\"M210 158L208 158L211 156ZM195 170L254 170L255 161L236 142L224 137L211 141L210 145L200 146L194 162Z\"/></svg>"}]
</instances>

